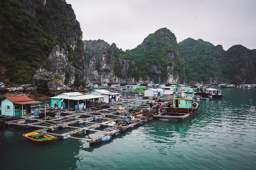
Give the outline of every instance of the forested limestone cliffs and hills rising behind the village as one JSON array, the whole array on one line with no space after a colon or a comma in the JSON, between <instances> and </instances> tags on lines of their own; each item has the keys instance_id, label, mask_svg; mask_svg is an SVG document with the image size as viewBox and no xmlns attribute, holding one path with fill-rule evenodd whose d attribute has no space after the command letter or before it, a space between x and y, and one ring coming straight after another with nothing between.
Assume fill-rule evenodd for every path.
<instances>
[{"instance_id":1,"label":"forested limestone cliffs and hills rising behind the village","mask_svg":"<svg viewBox=\"0 0 256 170\"><path fill-rule=\"evenodd\" d=\"M65 0L1 0L0 82L32 83L37 70L67 86L87 83L256 83L256 52L241 45L225 51L202 39L179 44L160 28L132 50L103 40L82 41ZM86 39L86 37L83 37Z\"/></svg>"}]
</instances>

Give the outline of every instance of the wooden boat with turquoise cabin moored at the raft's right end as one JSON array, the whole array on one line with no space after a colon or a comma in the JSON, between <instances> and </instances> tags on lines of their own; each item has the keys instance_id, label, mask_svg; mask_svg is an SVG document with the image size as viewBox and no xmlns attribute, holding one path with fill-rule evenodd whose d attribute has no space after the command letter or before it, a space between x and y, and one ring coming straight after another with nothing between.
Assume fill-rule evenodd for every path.
<instances>
[{"instance_id":1,"label":"wooden boat with turquoise cabin moored at the raft's right end","mask_svg":"<svg viewBox=\"0 0 256 170\"><path fill-rule=\"evenodd\" d=\"M198 108L200 107L198 102L194 102L193 97L194 94L182 93L178 98L171 98L172 107L167 107L165 113L161 113L158 117L165 120L173 119L177 121L179 118L181 120L186 120L185 118L197 113Z\"/></svg>"}]
</instances>

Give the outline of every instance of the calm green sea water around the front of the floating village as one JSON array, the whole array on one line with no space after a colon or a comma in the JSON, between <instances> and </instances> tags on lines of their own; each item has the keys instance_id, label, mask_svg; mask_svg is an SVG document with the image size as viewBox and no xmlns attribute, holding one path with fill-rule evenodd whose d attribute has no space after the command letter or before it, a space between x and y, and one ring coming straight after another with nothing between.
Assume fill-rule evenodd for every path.
<instances>
[{"instance_id":1,"label":"calm green sea water around the front of the floating village","mask_svg":"<svg viewBox=\"0 0 256 170\"><path fill-rule=\"evenodd\" d=\"M86 148L69 139L37 143L0 130L0 170L254 170L256 88L222 89L188 122L151 121Z\"/></svg>"}]
</instances>

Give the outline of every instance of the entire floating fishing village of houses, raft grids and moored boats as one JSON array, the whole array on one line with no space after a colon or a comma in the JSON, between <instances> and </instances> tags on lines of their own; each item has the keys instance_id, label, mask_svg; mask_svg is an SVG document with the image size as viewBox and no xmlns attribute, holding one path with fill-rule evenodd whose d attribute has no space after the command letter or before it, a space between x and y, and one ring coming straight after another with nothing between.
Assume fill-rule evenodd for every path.
<instances>
[{"instance_id":1,"label":"entire floating fishing village of houses, raft grids and moored boats","mask_svg":"<svg viewBox=\"0 0 256 170\"><path fill-rule=\"evenodd\" d=\"M44 104L27 96L7 96L1 103L1 125L31 130L23 136L36 142L79 139L90 147L151 120L188 121L200 107L197 100L222 97L220 89L184 85L107 89L107 85L94 85L86 94L62 93Z\"/></svg>"}]
</instances>

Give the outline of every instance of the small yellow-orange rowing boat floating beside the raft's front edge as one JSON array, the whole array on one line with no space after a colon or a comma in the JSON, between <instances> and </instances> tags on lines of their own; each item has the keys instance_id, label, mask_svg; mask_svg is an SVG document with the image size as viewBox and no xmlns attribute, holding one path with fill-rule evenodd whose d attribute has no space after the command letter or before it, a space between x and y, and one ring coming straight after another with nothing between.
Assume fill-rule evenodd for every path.
<instances>
[{"instance_id":1,"label":"small yellow-orange rowing boat floating beside the raft's front edge","mask_svg":"<svg viewBox=\"0 0 256 170\"><path fill-rule=\"evenodd\" d=\"M29 133L25 133L22 134L24 137L26 137L27 139L36 141L36 142L46 142L49 140L53 140L53 139L57 139L57 137L54 137L52 135L46 134L46 133L42 133L42 132L29 132Z\"/></svg>"}]
</instances>

